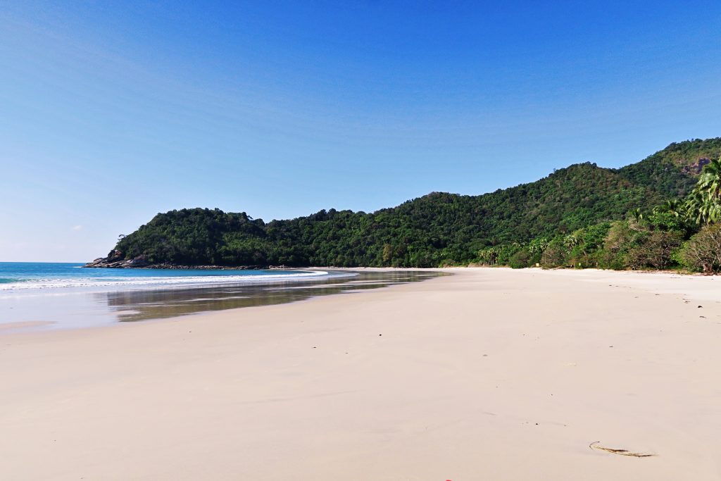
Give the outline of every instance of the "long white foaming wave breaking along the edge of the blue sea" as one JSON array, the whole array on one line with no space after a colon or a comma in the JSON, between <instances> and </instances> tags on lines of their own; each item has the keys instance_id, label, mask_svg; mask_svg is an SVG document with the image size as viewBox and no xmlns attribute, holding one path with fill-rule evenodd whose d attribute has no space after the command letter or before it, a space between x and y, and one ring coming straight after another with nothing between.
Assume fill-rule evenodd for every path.
<instances>
[{"instance_id":1,"label":"long white foaming wave breaking along the edge of the blue sea","mask_svg":"<svg viewBox=\"0 0 721 481\"><path fill-rule=\"evenodd\" d=\"M188 275L158 277L127 277L127 278L47 278L26 279L0 283L0 291L25 291L27 289L56 288L99 288L123 287L183 287L212 286L218 284L268 284L285 281L305 281L319 276L329 275L323 270L308 270L292 274L262 275Z\"/></svg>"}]
</instances>

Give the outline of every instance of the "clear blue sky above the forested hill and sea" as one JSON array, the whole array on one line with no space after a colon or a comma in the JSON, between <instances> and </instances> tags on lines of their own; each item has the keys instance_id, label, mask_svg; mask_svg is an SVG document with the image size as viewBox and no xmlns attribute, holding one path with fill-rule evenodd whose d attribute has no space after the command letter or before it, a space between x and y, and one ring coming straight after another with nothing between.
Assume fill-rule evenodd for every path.
<instances>
[{"instance_id":1,"label":"clear blue sky above the forested hill and sea","mask_svg":"<svg viewBox=\"0 0 721 481\"><path fill-rule=\"evenodd\" d=\"M3 1L0 261L721 136L719 1Z\"/></svg>"}]
</instances>

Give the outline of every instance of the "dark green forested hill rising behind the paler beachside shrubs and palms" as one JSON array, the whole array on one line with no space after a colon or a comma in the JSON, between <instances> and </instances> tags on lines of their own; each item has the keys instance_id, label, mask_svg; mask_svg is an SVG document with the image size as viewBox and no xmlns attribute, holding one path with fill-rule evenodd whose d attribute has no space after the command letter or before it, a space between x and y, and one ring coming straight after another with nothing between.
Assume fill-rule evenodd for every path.
<instances>
[{"instance_id":1,"label":"dark green forested hill rising behind the paler beachside shrubs and palms","mask_svg":"<svg viewBox=\"0 0 721 481\"><path fill-rule=\"evenodd\" d=\"M430 193L374 213L320 211L287 221L218 209L159 213L120 239L112 258L139 265L436 267L496 244L528 242L679 198L721 138L674 143L622 169L575 164L484 195Z\"/></svg>"}]
</instances>

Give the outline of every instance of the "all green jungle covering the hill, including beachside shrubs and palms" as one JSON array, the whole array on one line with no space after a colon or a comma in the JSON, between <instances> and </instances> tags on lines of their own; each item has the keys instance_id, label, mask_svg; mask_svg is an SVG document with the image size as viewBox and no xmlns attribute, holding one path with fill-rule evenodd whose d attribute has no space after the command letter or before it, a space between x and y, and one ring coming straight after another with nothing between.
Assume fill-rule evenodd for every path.
<instances>
[{"instance_id":1,"label":"all green jungle covering the hill, including beachside shrubs and palms","mask_svg":"<svg viewBox=\"0 0 721 481\"><path fill-rule=\"evenodd\" d=\"M115 249L178 265L712 271L721 268L706 252L720 238L719 156L721 138L696 139L621 169L586 162L493 193L430 193L374 213L330 209L265 223L181 209L159 213Z\"/></svg>"}]
</instances>

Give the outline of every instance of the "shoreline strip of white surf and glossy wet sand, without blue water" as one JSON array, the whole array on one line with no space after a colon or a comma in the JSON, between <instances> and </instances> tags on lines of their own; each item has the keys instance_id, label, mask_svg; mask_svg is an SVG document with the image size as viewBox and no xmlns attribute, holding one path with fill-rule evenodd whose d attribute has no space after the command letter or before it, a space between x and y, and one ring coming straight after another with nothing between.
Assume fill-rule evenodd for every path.
<instances>
[{"instance_id":1,"label":"shoreline strip of white surf and glossy wet sand, without blue water","mask_svg":"<svg viewBox=\"0 0 721 481\"><path fill-rule=\"evenodd\" d=\"M54 288L39 286L0 293L0 334L9 330L60 330L285 304L347 294L397 283L424 281L441 273L305 270L262 275L128 278ZM267 275L271 274L271 275ZM100 280L102 281L102 280ZM11 285L12 286L12 285Z\"/></svg>"}]
</instances>

